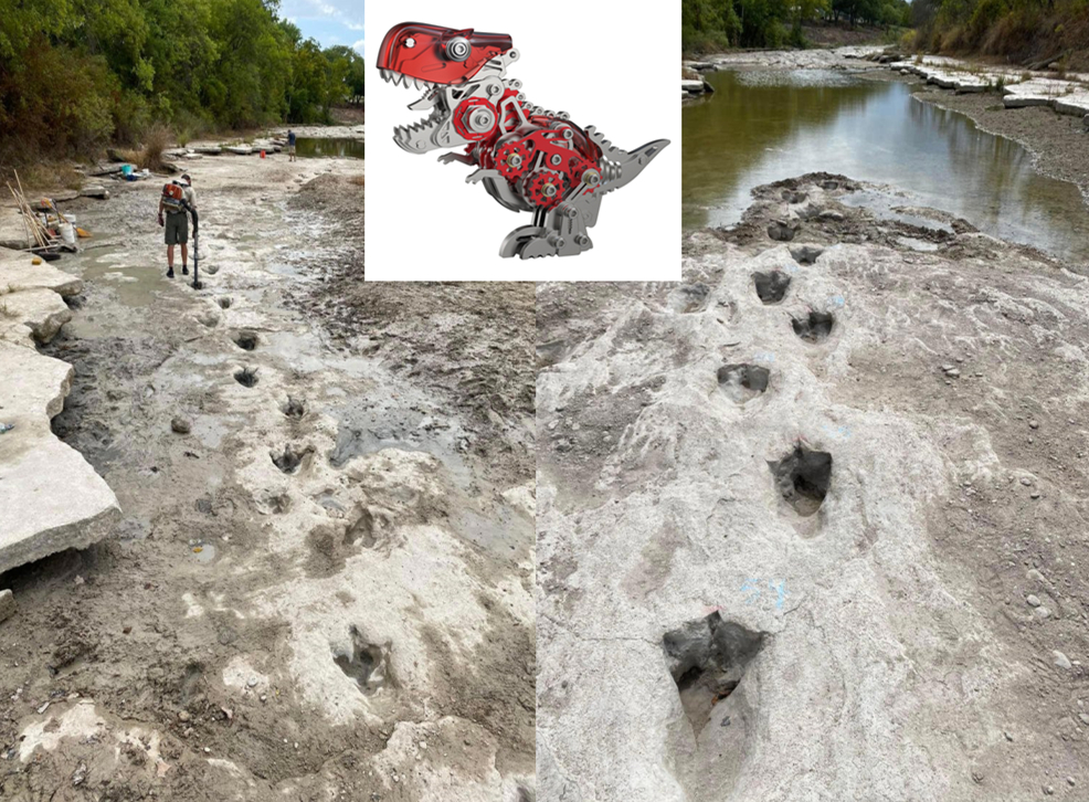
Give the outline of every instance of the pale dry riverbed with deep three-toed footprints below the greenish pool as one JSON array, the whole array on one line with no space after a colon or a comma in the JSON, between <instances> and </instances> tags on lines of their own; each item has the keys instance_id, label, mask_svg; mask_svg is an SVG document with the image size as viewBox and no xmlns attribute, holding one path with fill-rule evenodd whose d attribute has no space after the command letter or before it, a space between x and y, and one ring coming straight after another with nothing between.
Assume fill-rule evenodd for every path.
<instances>
[{"instance_id":1,"label":"pale dry riverbed with deep three-toed footprints below the greenish pool","mask_svg":"<svg viewBox=\"0 0 1089 802\"><path fill-rule=\"evenodd\" d=\"M538 289L544 799L1085 799L1089 278L812 175Z\"/></svg>"}]
</instances>

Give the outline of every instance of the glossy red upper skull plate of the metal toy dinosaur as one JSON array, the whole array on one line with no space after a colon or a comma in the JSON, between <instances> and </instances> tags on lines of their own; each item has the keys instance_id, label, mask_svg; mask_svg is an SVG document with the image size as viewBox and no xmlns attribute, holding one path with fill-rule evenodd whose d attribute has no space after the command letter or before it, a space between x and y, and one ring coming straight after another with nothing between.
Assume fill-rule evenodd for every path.
<instances>
[{"instance_id":1,"label":"glossy red upper skull plate of the metal toy dinosaur","mask_svg":"<svg viewBox=\"0 0 1089 802\"><path fill-rule=\"evenodd\" d=\"M394 83L404 77L454 86L464 84L488 61L512 46L505 33L402 22L385 34L376 63L383 74L393 74Z\"/></svg>"}]
</instances>

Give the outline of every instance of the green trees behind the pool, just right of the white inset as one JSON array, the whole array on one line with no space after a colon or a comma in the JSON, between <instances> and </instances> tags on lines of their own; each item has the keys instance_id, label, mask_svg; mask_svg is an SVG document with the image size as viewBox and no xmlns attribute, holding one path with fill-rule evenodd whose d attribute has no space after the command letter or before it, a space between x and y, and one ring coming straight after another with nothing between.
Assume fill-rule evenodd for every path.
<instances>
[{"instance_id":1,"label":"green trees behind the pool, just right of the white inset","mask_svg":"<svg viewBox=\"0 0 1089 802\"><path fill-rule=\"evenodd\" d=\"M813 23L896 30L910 18L907 0L683 0L681 49L804 48Z\"/></svg>"}]
</instances>

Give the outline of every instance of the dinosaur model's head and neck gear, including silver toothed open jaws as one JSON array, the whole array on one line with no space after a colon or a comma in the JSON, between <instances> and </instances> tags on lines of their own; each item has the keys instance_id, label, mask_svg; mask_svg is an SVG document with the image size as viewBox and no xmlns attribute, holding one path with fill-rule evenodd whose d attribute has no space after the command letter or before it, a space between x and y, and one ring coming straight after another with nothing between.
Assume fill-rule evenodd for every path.
<instances>
[{"instance_id":1,"label":"dinosaur model's head and neck gear, including silver toothed open jaws","mask_svg":"<svg viewBox=\"0 0 1089 802\"><path fill-rule=\"evenodd\" d=\"M506 65L517 59L510 36L504 33L419 22L394 25L382 40L376 64L384 81L422 89L423 97L409 108L430 109L430 114L399 126L393 140L422 154L487 136L500 116L495 104L507 94Z\"/></svg>"}]
</instances>

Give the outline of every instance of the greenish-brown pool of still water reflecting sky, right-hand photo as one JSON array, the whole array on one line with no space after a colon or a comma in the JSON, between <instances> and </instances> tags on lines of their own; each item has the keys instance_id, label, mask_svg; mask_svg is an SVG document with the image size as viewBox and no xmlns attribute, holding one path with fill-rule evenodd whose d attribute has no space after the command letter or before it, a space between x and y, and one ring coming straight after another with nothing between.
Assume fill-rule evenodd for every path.
<instances>
[{"instance_id":1,"label":"greenish-brown pool of still water reflecting sky, right-hand photo","mask_svg":"<svg viewBox=\"0 0 1089 802\"><path fill-rule=\"evenodd\" d=\"M683 110L686 230L734 223L753 187L824 170L892 184L905 204L1089 262L1089 209L1077 187L1036 172L1017 143L914 99L907 84L822 70L707 80L715 94Z\"/></svg>"}]
</instances>

